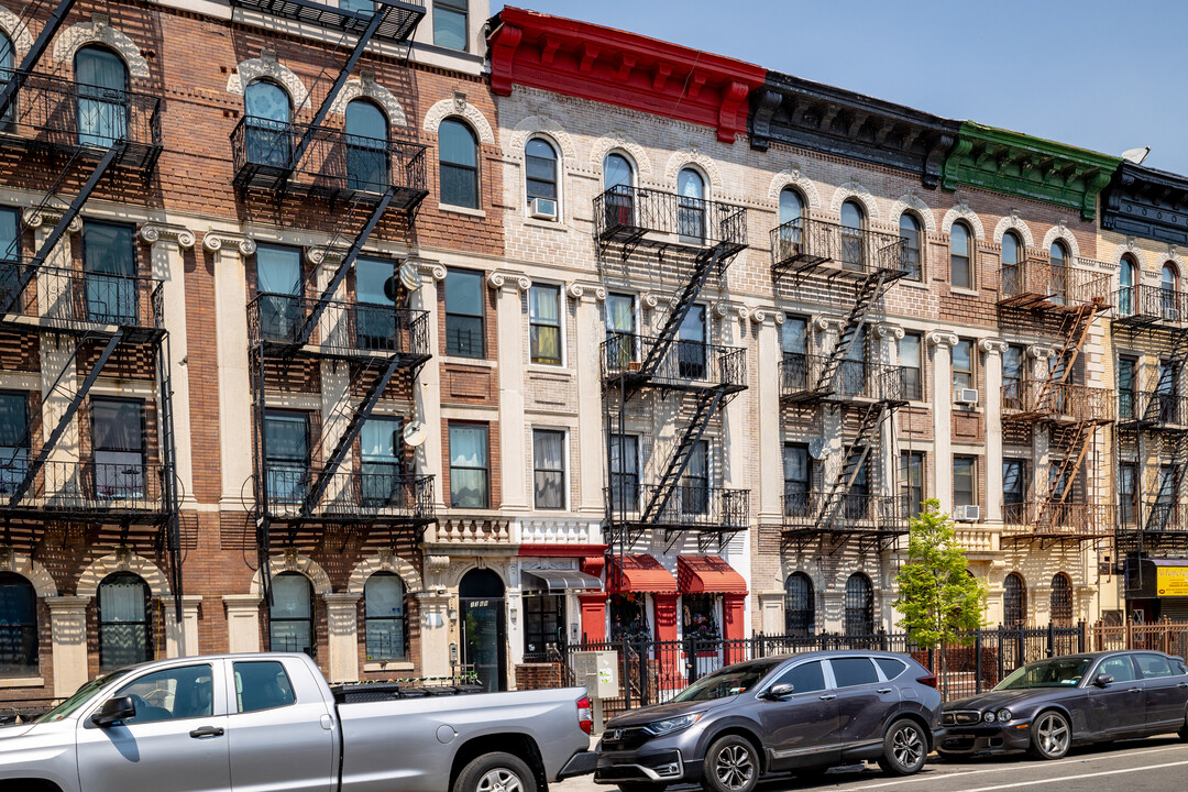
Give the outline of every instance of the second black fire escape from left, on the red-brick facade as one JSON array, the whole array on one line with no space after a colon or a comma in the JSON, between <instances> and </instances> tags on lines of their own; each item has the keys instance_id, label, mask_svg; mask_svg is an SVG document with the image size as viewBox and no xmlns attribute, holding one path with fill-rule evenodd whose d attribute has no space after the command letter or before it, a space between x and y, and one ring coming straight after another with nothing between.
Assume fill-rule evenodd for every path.
<instances>
[{"instance_id":1,"label":"second black fire escape from left, on the red-brick facade","mask_svg":"<svg viewBox=\"0 0 1188 792\"><path fill-rule=\"evenodd\" d=\"M308 0L232 0L232 5L339 36L314 87L328 85L326 94L308 123L245 116L232 133L234 183L245 201L271 198L278 207L290 196L320 201L328 216L337 217L323 248L326 261L337 260L326 287L309 297L304 291L258 293L247 309L257 550L265 596L271 601L268 558L274 531L285 546L296 546L303 537L322 543L329 526L345 526L365 539L391 545L409 532L419 539L435 519L432 476L417 476L403 463L371 470L350 469L348 463L380 400L402 394L411 399L417 373L430 359L429 317L406 306L407 290L394 267L385 285L393 304L341 297L353 265L381 221L394 216L412 230L417 209L428 196L425 147L362 139L327 125L367 45L406 45L425 11L419 2L391 0L374 2L373 12ZM331 362L333 370L345 374L348 382L340 404L322 419L323 427L341 431L336 437L323 432L308 449L304 464L268 462L267 392L323 362ZM399 445L399 439L392 442Z\"/></svg>"}]
</instances>

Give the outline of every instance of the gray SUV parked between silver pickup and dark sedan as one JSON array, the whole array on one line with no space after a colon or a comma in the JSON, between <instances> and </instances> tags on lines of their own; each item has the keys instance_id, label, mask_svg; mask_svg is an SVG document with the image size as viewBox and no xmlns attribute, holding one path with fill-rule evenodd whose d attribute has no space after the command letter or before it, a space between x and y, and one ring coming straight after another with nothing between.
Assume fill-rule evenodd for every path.
<instances>
[{"instance_id":1,"label":"gray SUV parked between silver pickup and dark sedan","mask_svg":"<svg viewBox=\"0 0 1188 792\"><path fill-rule=\"evenodd\" d=\"M623 792L751 792L763 775L867 759L910 775L942 735L936 677L911 658L810 652L727 666L666 704L612 718L594 780Z\"/></svg>"}]
</instances>

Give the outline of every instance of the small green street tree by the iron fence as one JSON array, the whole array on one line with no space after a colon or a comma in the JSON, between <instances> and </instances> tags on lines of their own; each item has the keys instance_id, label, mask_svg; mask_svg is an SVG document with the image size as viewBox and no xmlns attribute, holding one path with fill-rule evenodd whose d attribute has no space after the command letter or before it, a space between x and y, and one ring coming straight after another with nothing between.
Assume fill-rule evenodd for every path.
<instances>
[{"instance_id":1,"label":"small green street tree by the iron fence","mask_svg":"<svg viewBox=\"0 0 1188 792\"><path fill-rule=\"evenodd\" d=\"M941 650L937 673L943 690L944 646L968 644L967 634L985 625L986 587L966 571L965 551L940 501L922 506L909 524L908 560L896 574L895 606L909 640L924 650Z\"/></svg>"}]
</instances>

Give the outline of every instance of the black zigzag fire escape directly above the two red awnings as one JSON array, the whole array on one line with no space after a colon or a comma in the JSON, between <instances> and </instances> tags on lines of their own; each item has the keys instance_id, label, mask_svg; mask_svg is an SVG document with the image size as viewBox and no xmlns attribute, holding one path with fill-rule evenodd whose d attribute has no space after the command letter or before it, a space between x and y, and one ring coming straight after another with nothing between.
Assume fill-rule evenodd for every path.
<instances>
[{"instance_id":1,"label":"black zigzag fire escape directly above the two red awnings","mask_svg":"<svg viewBox=\"0 0 1188 792\"><path fill-rule=\"evenodd\" d=\"M594 224L607 283L655 283L659 273L678 284L655 335L608 331L602 344L608 543L621 557L658 530L669 546L696 534L702 552L714 543L722 549L748 526L750 490L714 486L708 470L700 477L687 473L715 416L746 389L746 350L707 343L708 328L701 338L682 340L681 328L710 278L720 279L746 247L746 209L617 186L594 199ZM675 416L671 448L651 481L642 480L636 461L627 462L634 454L627 448L627 412L642 406L644 394L652 410L671 405Z\"/></svg>"}]
</instances>

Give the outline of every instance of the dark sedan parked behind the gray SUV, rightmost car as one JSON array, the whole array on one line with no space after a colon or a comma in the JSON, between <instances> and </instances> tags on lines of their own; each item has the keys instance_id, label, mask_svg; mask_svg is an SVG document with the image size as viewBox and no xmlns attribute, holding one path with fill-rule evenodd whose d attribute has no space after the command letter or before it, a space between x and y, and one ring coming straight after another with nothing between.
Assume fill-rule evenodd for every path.
<instances>
[{"instance_id":1,"label":"dark sedan parked behind the gray SUV, rightmost car","mask_svg":"<svg viewBox=\"0 0 1188 792\"><path fill-rule=\"evenodd\" d=\"M1162 652L1100 652L1030 663L994 690L944 705L941 756L1026 750L1178 731L1188 740L1188 667Z\"/></svg>"}]
</instances>

